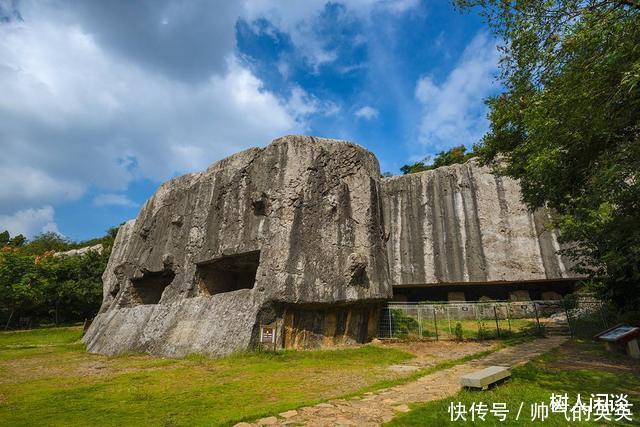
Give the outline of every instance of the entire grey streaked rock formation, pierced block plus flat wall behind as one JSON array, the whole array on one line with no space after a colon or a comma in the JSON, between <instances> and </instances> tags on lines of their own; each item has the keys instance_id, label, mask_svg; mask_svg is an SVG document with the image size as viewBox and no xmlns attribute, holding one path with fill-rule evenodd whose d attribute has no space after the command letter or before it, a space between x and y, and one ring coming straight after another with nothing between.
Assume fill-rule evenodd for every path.
<instances>
[{"instance_id":1,"label":"entire grey streaked rock formation, pierced block plus flat wall behind","mask_svg":"<svg viewBox=\"0 0 640 427\"><path fill-rule=\"evenodd\" d=\"M342 141L288 136L163 184L120 228L91 352L225 355L364 342L392 284L567 277L546 212L474 162L380 178Z\"/></svg>"}]
</instances>

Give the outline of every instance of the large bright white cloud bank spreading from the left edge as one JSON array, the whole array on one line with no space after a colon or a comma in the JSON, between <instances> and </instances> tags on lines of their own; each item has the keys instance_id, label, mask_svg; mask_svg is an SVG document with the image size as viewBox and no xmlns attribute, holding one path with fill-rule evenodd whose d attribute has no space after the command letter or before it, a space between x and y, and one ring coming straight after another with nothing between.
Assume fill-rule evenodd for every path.
<instances>
[{"instance_id":1,"label":"large bright white cloud bank spreading from the left edge","mask_svg":"<svg viewBox=\"0 0 640 427\"><path fill-rule=\"evenodd\" d=\"M24 21L0 24L0 214L204 169L304 129L315 111L309 96L265 90L233 52L185 81L102 46L47 3L27 5Z\"/></svg>"}]
</instances>

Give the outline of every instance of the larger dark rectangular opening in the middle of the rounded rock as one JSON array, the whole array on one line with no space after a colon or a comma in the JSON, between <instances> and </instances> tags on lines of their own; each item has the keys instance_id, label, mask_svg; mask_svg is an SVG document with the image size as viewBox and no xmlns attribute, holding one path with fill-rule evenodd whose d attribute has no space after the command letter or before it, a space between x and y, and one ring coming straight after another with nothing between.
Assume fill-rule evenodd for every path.
<instances>
[{"instance_id":1,"label":"larger dark rectangular opening in the middle of the rounded rock","mask_svg":"<svg viewBox=\"0 0 640 427\"><path fill-rule=\"evenodd\" d=\"M208 295L251 289L256 281L260 251L228 255L199 263L196 281Z\"/></svg>"}]
</instances>

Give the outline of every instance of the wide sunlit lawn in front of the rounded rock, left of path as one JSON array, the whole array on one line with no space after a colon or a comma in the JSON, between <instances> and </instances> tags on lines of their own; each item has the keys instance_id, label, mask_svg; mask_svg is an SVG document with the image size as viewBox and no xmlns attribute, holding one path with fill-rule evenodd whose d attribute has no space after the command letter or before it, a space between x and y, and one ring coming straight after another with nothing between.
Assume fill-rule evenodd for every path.
<instances>
[{"instance_id":1,"label":"wide sunlit lawn in front of the rounded rock, left of path","mask_svg":"<svg viewBox=\"0 0 640 427\"><path fill-rule=\"evenodd\" d=\"M87 354L80 327L0 333L0 425L219 425L397 380L363 346L165 359Z\"/></svg>"}]
</instances>

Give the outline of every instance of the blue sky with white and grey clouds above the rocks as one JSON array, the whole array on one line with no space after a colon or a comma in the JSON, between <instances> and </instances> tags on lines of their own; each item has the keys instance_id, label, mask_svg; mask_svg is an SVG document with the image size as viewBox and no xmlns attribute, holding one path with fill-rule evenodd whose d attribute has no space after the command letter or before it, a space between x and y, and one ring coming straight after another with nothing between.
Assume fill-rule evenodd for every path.
<instances>
[{"instance_id":1,"label":"blue sky with white and grey clouds above the rocks","mask_svg":"<svg viewBox=\"0 0 640 427\"><path fill-rule=\"evenodd\" d=\"M448 1L0 0L0 230L99 236L292 133L398 174L481 138L497 61Z\"/></svg>"}]
</instances>

